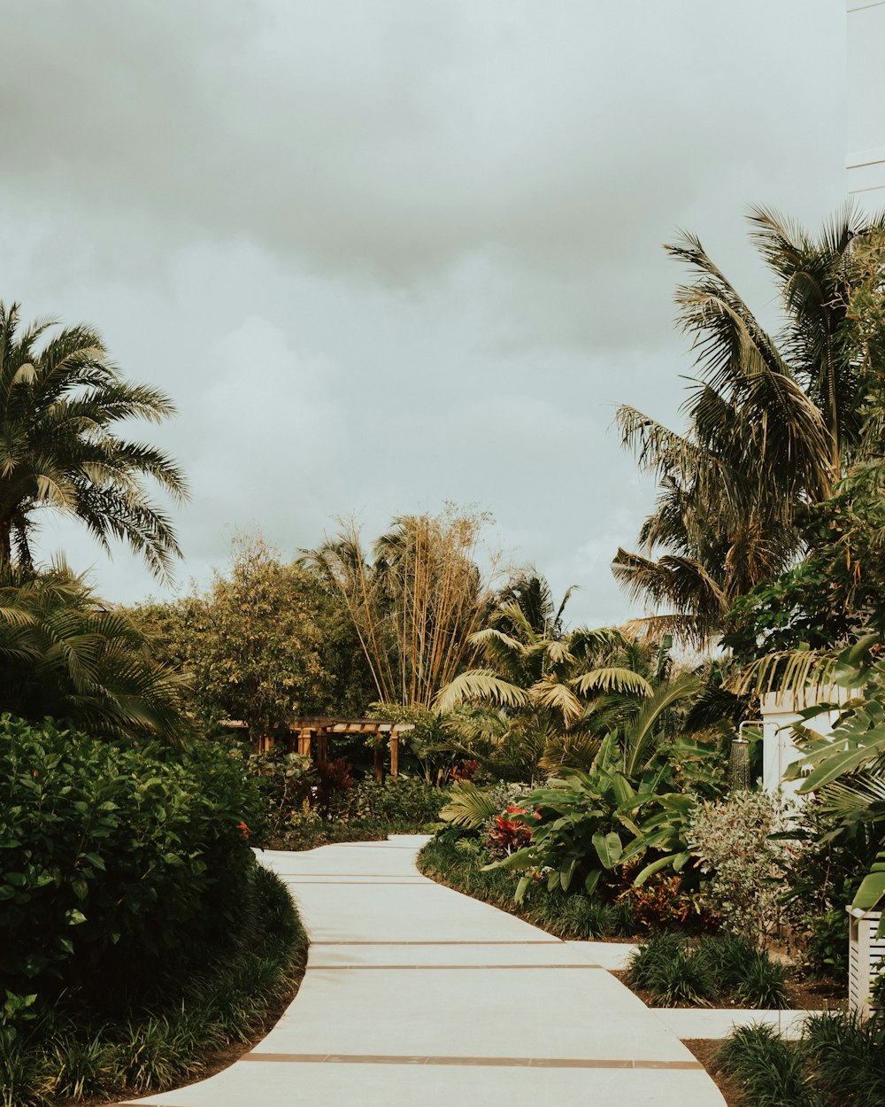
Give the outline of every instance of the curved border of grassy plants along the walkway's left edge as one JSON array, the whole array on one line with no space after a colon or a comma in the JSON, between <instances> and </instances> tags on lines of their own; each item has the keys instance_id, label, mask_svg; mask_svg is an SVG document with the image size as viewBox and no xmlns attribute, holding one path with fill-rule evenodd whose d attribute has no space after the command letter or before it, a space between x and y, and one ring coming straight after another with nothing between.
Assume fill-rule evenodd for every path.
<instances>
[{"instance_id":1,"label":"curved border of grassy plants along the walkway's left edge","mask_svg":"<svg viewBox=\"0 0 885 1107\"><path fill-rule=\"evenodd\" d=\"M285 887L249 876L247 924L223 955L165 982L147 1006L108 1018L63 995L25 1035L0 1041L0 1107L129 1099L206 1075L218 1051L269 1028L292 997L306 935Z\"/></svg>"}]
</instances>

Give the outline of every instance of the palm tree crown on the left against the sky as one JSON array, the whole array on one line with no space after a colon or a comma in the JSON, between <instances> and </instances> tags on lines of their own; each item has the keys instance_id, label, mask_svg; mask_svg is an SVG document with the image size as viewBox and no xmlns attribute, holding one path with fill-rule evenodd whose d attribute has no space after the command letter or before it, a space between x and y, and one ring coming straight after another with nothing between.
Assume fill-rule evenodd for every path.
<instances>
[{"instance_id":1,"label":"palm tree crown on the left against the sky","mask_svg":"<svg viewBox=\"0 0 885 1107\"><path fill-rule=\"evenodd\" d=\"M122 538L165 576L179 556L171 523L145 493L153 478L178 499L185 480L160 451L119 437L116 424L173 414L156 389L124 381L90 327L46 337L54 321L22 328L0 302L0 568L32 563L39 513L81 519L107 549ZM42 346L40 342L42 339Z\"/></svg>"}]
</instances>

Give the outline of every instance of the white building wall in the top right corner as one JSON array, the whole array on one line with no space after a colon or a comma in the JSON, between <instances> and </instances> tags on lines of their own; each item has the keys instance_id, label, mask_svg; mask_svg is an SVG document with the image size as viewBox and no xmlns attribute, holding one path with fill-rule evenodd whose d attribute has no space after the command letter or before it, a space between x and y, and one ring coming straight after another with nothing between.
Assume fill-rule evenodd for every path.
<instances>
[{"instance_id":1,"label":"white building wall in the top right corner","mask_svg":"<svg viewBox=\"0 0 885 1107\"><path fill-rule=\"evenodd\" d=\"M847 0L848 192L885 208L885 0Z\"/></svg>"}]
</instances>

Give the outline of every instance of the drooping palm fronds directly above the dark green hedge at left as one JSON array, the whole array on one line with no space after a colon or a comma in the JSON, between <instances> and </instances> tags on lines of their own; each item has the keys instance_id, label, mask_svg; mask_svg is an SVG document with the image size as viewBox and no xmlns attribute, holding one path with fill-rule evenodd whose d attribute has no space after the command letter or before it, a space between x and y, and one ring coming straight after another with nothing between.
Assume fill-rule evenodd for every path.
<instances>
[{"instance_id":1,"label":"drooping palm fronds directly above the dark green hedge at left","mask_svg":"<svg viewBox=\"0 0 885 1107\"><path fill-rule=\"evenodd\" d=\"M183 742L187 679L63 563L0 569L0 713L51 715L103 737Z\"/></svg>"}]
</instances>

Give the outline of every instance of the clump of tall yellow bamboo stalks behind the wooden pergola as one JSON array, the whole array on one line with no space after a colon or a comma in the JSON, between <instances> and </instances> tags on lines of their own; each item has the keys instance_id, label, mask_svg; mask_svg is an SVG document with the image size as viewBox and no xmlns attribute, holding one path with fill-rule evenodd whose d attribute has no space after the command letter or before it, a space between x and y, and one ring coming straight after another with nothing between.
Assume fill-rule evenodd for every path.
<instances>
[{"instance_id":1,"label":"clump of tall yellow bamboo stalks behind the wooden pergola","mask_svg":"<svg viewBox=\"0 0 885 1107\"><path fill-rule=\"evenodd\" d=\"M477 566L481 513L400 516L369 556L353 523L305 556L337 589L385 703L431 707L472 654L470 637L491 609Z\"/></svg>"}]
</instances>

